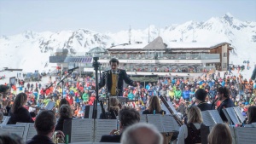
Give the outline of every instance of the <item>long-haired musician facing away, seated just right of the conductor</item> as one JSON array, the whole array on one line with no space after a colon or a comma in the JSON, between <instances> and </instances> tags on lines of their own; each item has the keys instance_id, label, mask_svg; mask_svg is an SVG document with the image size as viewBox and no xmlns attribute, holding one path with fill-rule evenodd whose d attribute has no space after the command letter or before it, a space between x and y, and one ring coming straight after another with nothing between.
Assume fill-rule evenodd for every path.
<instances>
[{"instance_id":1,"label":"long-haired musician facing away, seated just right of the conductor","mask_svg":"<svg viewBox=\"0 0 256 144\"><path fill-rule=\"evenodd\" d=\"M151 96L148 109L143 111L143 114L166 114L166 111L161 109L160 101L157 96Z\"/></svg>"}]
</instances>

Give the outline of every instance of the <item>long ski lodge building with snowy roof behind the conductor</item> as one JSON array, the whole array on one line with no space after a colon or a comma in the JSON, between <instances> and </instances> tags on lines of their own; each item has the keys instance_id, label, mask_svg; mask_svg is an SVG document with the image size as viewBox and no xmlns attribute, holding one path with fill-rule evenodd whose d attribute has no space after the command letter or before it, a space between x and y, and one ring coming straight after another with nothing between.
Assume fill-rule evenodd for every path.
<instances>
[{"instance_id":1,"label":"long ski lodge building with snowy roof behind the conductor","mask_svg":"<svg viewBox=\"0 0 256 144\"><path fill-rule=\"evenodd\" d=\"M96 47L87 53L61 55L61 51L49 57L50 63L60 68L79 66L79 72L95 72L93 57L98 56L100 69L110 69L111 58L119 60L119 68L131 76L158 75L161 77L198 77L203 73L219 70L227 71L229 66L230 43L164 43L157 37L151 43L124 43L108 49Z\"/></svg>"}]
</instances>

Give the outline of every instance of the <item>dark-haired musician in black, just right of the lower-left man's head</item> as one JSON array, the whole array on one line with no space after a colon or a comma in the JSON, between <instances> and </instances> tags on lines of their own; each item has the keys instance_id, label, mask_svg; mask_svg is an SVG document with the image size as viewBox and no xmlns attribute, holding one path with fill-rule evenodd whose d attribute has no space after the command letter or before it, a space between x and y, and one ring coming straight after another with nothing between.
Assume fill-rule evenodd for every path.
<instances>
[{"instance_id":1,"label":"dark-haired musician in black, just right of the lower-left man's head","mask_svg":"<svg viewBox=\"0 0 256 144\"><path fill-rule=\"evenodd\" d=\"M67 104L61 105L59 110L60 118L56 124L55 130L63 131L63 124L65 119L72 119L72 110L71 107Z\"/></svg>"}]
</instances>

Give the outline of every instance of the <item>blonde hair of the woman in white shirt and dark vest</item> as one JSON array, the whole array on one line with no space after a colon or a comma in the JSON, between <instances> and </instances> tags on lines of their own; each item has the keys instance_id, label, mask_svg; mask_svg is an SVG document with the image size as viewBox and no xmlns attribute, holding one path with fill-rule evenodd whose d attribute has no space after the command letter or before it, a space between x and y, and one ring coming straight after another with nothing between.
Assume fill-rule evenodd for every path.
<instances>
[{"instance_id":1,"label":"blonde hair of the woman in white shirt and dark vest","mask_svg":"<svg viewBox=\"0 0 256 144\"><path fill-rule=\"evenodd\" d=\"M188 124L201 124L203 119L201 117L201 111L198 107L190 107L188 110Z\"/></svg>"}]
</instances>

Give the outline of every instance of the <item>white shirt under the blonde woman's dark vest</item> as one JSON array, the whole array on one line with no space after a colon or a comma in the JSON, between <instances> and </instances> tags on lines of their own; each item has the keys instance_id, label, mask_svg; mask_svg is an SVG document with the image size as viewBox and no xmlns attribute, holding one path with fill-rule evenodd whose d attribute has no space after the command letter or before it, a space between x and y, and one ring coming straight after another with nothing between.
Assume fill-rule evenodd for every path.
<instances>
[{"instance_id":1,"label":"white shirt under the blonde woman's dark vest","mask_svg":"<svg viewBox=\"0 0 256 144\"><path fill-rule=\"evenodd\" d=\"M194 124L195 128L199 130L201 128L201 124ZM177 144L184 144L185 139L188 137L188 128L187 125L184 124L179 128L179 133L177 135Z\"/></svg>"}]
</instances>

